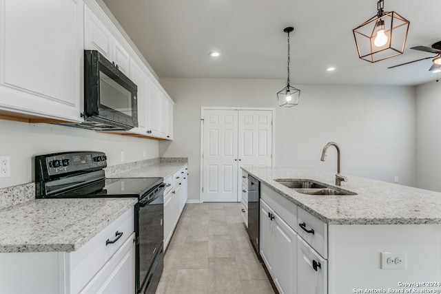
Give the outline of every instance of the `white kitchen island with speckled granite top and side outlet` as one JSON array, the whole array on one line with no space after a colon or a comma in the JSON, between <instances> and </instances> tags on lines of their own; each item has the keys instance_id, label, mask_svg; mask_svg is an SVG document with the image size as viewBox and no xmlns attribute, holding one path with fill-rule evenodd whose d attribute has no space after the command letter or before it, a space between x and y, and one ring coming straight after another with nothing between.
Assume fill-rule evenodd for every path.
<instances>
[{"instance_id":1,"label":"white kitchen island with speckled granite top and side outlet","mask_svg":"<svg viewBox=\"0 0 441 294\"><path fill-rule=\"evenodd\" d=\"M260 181L259 253L279 290L441 292L441 193L356 176L337 187L323 171L244 171ZM278 181L292 179L356 195L309 195Z\"/></svg>"}]
</instances>

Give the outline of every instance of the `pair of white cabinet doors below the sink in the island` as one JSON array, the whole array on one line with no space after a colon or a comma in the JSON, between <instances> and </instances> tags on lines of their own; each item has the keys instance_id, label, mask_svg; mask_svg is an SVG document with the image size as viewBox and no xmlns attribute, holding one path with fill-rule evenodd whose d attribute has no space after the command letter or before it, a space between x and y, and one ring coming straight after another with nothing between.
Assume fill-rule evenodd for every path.
<instances>
[{"instance_id":1,"label":"pair of white cabinet doors below the sink in the island","mask_svg":"<svg viewBox=\"0 0 441 294\"><path fill-rule=\"evenodd\" d=\"M260 255L279 293L297 293L297 234L264 200L260 200Z\"/></svg>"}]
</instances>

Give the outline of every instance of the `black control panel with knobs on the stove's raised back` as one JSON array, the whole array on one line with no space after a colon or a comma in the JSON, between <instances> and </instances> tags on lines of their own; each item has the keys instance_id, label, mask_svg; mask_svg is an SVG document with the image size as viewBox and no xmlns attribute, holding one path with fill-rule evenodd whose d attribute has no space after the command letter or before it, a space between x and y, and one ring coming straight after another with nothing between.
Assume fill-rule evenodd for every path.
<instances>
[{"instance_id":1,"label":"black control panel with knobs on the stove's raised back","mask_svg":"<svg viewBox=\"0 0 441 294\"><path fill-rule=\"evenodd\" d=\"M35 178L49 180L65 174L107 167L107 156L99 151L76 151L35 156Z\"/></svg>"}]
</instances>

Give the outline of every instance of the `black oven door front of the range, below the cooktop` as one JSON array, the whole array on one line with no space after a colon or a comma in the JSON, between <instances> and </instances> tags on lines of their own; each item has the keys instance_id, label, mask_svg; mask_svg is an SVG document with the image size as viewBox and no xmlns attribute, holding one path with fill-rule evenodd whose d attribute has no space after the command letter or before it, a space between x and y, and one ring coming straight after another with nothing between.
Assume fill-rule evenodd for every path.
<instances>
[{"instance_id":1,"label":"black oven door front of the range, below the cooktop","mask_svg":"<svg viewBox=\"0 0 441 294\"><path fill-rule=\"evenodd\" d=\"M141 289L145 291L146 286L153 286L147 285L151 280L149 276L152 275L152 270L162 270L162 266L155 266L154 263L158 253L162 257L164 238L163 216L163 189L150 200L143 201L141 199L136 204L136 287L138 293L141 292ZM161 276L161 273L159 273L159 276Z\"/></svg>"}]
</instances>

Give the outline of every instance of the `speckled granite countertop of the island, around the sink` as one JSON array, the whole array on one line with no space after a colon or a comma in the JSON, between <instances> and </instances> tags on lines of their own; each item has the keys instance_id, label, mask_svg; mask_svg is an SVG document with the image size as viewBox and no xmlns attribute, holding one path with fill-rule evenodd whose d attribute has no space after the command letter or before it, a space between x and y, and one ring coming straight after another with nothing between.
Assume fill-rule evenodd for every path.
<instances>
[{"instance_id":1,"label":"speckled granite countertop of the island, around the sink","mask_svg":"<svg viewBox=\"0 0 441 294\"><path fill-rule=\"evenodd\" d=\"M243 168L327 224L441 224L441 193L389 182L347 176L341 189L358 195L307 195L276 179L310 179L334 186L335 173L294 168Z\"/></svg>"}]
</instances>

